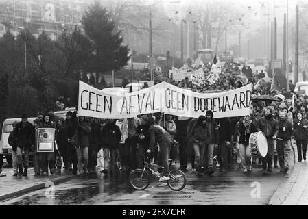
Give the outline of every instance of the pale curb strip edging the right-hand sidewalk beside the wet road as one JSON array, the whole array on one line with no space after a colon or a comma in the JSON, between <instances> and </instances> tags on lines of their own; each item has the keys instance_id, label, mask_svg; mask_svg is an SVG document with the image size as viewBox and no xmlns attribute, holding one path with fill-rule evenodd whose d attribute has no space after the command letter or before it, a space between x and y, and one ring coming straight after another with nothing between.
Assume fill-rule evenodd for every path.
<instances>
[{"instance_id":1,"label":"pale curb strip edging the right-hand sidewalk beside the wet road","mask_svg":"<svg viewBox=\"0 0 308 219\"><path fill-rule=\"evenodd\" d=\"M292 173L286 174L285 177L289 178L287 181L281 183L279 187L274 192L272 198L270 198L270 201L267 205L282 205L283 202L287 199L287 196L292 191L292 188L294 184L296 183L296 179L298 178L298 175L300 174L301 165L296 162L296 152L294 150L294 146L292 145L292 153L294 153L294 166L292 167Z\"/></svg>"}]
</instances>

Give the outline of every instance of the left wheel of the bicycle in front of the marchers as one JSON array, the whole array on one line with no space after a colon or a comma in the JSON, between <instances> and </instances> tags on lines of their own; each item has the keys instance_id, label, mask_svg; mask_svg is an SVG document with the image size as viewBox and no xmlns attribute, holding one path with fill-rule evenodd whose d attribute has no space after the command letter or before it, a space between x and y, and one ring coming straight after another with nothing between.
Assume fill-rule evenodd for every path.
<instances>
[{"instance_id":1,"label":"left wheel of the bicycle in front of the marchers","mask_svg":"<svg viewBox=\"0 0 308 219\"><path fill-rule=\"evenodd\" d=\"M141 169L133 170L129 180L134 190L145 190L150 185L150 175Z\"/></svg>"}]
</instances>

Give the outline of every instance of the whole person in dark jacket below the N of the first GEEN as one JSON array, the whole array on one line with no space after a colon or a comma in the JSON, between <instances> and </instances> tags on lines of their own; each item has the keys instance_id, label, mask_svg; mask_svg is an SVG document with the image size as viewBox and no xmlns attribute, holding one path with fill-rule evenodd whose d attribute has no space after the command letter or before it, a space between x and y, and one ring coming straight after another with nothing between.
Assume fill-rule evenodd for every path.
<instances>
[{"instance_id":1,"label":"whole person in dark jacket below the N of the first GEEN","mask_svg":"<svg viewBox=\"0 0 308 219\"><path fill-rule=\"evenodd\" d=\"M109 173L109 175L112 175L112 170L115 169L115 153L121 141L121 131L115 123L114 119L107 120L100 134L104 150L104 170L102 172Z\"/></svg>"}]
</instances>

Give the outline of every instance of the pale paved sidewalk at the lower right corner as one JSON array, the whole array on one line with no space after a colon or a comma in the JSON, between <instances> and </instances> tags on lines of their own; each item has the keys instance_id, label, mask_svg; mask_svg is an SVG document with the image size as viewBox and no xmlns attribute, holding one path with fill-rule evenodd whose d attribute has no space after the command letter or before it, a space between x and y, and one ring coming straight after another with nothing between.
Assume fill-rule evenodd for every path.
<instances>
[{"instance_id":1,"label":"pale paved sidewalk at the lower right corner","mask_svg":"<svg viewBox=\"0 0 308 219\"><path fill-rule=\"evenodd\" d=\"M296 145L294 151L296 164L292 174L279 185L268 205L308 205L308 162L298 163Z\"/></svg>"}]
</instances>

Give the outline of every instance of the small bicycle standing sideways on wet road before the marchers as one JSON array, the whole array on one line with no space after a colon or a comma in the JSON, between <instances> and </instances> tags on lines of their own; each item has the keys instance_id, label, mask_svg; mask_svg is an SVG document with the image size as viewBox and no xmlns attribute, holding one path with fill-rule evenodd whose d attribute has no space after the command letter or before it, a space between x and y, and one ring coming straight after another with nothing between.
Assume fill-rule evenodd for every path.
<instances>
[{"instance_id":1,"label":"small bicycle standing sideways on wet road before the marchers","mask_svg":"<svg viewBox=\"0 0 308 219\"><path fill-rule=\"evenodd\" d=\"M169 162L172 162L172 160L169 160ZM145 190L150 185L151 174L158 177L158 179L163 177L161 174L153 170L154 167L163 169L163 166L151 164L150 157L145 155L143 169L133 170L128 177L130 185L134 190ZM187 179L184 172L181 170L170 170L169 178L170 179L167 180L167 185L171 190L180 191L185 188ZM176 185L178 185L178 187Z\"/></svg>"}]
</instances>

